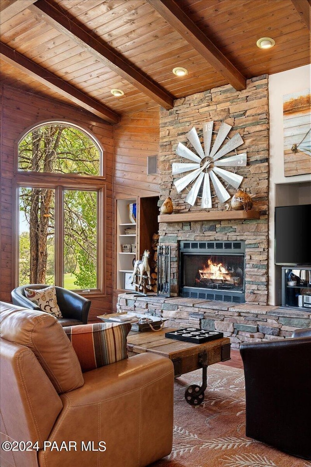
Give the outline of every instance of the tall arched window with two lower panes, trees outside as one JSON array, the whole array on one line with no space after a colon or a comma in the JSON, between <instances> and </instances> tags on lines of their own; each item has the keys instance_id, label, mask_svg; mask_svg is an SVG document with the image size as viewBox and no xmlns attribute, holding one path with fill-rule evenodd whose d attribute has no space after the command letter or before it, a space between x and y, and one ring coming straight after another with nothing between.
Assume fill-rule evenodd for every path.
<instances>
[{"instance_id":1,"label":"tall arched window with two lower panes, trees outside","mask_svg":"<svg viewBox=\"0 0 311 467\"><path fill-rule=\"evenodd\" d=\"M103 151L64 122L18 143L18 284L103 290Z\"/></svg>"}]
</instances>

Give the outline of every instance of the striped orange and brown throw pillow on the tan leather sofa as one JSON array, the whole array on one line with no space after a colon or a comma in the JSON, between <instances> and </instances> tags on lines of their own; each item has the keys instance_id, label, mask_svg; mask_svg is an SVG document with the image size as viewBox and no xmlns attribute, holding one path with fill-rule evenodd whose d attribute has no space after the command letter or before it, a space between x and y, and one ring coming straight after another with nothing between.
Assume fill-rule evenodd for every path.
<instances>
[{"instance_id":1,"label":"striped orange and brown throw pillow on the tan leather sofa","mask_svg":"<svg viewBox=\"0 0 311 467\"><path fill-rule=\"evenodd\" d=\"M82 372L127 359L126 336L131 323L94 323L66 326Z\"/></svg>"}]
</instances>

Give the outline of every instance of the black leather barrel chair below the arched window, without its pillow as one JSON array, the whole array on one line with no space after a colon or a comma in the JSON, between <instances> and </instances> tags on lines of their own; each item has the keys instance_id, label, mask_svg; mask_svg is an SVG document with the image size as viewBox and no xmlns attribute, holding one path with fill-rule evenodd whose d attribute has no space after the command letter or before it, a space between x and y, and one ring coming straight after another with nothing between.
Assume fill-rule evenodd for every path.
<instances>
[{"instance_id":1,"label":"black leather barrel chair below the arched window, without its pillow","mask_svg":"<svg viewBox=\"0 0 311 467\"><path fill-rule=\"evenodd\" d=\"M39 306L34 302L25 297L25 287L27 288L44 288L48 287L42 284L29 284L26 286L20 286L12 290L12 302L14 305L22 306L31 310L41 311ZM59 323L62 326L74 326L75 324L86 324L89 307L91 305L90 300L78 295L71 290L67 290L62 287L56 288L56 298L59 309L62 312L63 318L58 318Z\"/></svg>"}]
</instances>

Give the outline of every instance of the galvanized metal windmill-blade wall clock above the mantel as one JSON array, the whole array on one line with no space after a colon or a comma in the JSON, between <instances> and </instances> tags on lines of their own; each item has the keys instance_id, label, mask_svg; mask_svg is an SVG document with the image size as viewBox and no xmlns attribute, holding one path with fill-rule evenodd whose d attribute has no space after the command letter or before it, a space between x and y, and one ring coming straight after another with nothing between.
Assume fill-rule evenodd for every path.
<instances>
[{"instance_id":1,"label":"galvanized metal windmill-blade wall clock above the mantel","mask_svg":"<svg viewBox=\"0 0 311 467\"><path fill-rule=\"evenodd\" d=\"M222 123L211 147L213 125L214 122L203 124L203 147L194 127L187 133L187 138L195 152L191 151L185 144L178 143L177 145L176 154L180 156L182 162L173 162L172 164L173 176L179 176L173 183L178 193L182 192L185 188L188 189L189 193L185 201L191 206L194 205L196 198L201 198L199 192L202 187L201 207L212 207L210 181L219 201L224 203L231 196L227 192L227 187L223 185L218 177L225 180L228 185L232 185L234 188L239 188L243 180L241 175L222 168L246 165L245 152L242 154L235 153L233 156L223 158L223 156L243 144L240 134L236 133L225 142L232 126Z\"/></svg>"}]
</instances>

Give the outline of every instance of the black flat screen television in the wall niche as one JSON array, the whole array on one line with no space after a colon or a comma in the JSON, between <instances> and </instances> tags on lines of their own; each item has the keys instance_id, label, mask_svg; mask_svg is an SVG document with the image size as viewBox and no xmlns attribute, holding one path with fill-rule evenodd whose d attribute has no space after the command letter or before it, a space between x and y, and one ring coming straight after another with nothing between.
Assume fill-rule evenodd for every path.
<instances>
[{"instance_id":1,"label":"black flat screen television in the wall niche","mask_svg":"<svg viewBox=\"0 0 311 467\"><path fill-rule=\"evenodd\" d=\"M311 264L311 204L278 206L275 211L275 263Z\"/></svg>"}]
</instances>

